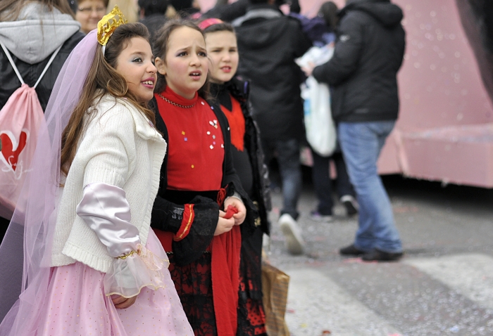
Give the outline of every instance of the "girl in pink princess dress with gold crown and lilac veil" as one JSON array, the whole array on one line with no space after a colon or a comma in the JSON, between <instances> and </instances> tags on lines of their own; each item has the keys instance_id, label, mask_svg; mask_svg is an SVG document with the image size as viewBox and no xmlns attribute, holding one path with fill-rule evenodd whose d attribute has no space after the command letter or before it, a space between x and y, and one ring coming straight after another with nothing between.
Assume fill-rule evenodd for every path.
<instances>
[{"instance_id":1,"label":"girl in pink princess dress with gold crown and lilac veil","mask_svg":"<svg viewBox=\"0 0 493 336\"><path fill-rule=\"evenodd\" d=\"M153 60L146 27L116 7L61 70L13 218L23 292L1 335L193 335L150 230L166 153Z\"/></svg>"}]
</instances>

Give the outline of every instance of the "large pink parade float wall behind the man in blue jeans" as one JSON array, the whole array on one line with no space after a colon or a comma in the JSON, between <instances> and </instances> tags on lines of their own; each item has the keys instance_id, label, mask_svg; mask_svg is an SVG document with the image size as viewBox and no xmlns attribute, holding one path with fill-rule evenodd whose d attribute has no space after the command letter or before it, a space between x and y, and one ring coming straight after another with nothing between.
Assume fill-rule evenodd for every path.
<instances>
[{"instance_id":1,"label":"large pink parade float wall behind the man in blue jeans","mask_svg":"<svg viewBox=\"0 0 493 336\"><path fill-rule=\"evenodd\" d=\"M404 10L401 110L381 174L493 188L493 104L456 1L393 0ZM201 0L203 9L214 0ZM323 0L300 0L313 16ZM339 7L344 0L336 0Z\"/></svg>"}]
</instances>

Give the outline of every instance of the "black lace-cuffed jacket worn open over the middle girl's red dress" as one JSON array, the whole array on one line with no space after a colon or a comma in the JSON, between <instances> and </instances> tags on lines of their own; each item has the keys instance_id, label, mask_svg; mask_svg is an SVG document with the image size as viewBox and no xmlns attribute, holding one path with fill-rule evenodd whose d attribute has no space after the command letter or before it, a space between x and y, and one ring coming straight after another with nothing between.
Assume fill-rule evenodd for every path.
<instances>
[{"instance_id":1,"label":"black lace-cuffed jacket worn open over the middle girl's red dress","mask_svg":"<svg viewBox=\"0 0 493 336\"><path fill-rule=\"evenodd\" d=\"M153 98L149 105L156 115L156 129L163 134L164 140L168 143L168 128L158 112L156 98ZM242 197L246 207L246 218L242 225L248 226L251 224L249 230L242 230L242 233L253 233L255 229L254 222L256 217L258 217L258 212L248 195L244 192L242 183L239 181L239 177L233 167L230 127L225 115L221 112L220 106L214 104L211 104L211 106L218 118L224 138L225 155L221 187L226 188L226 196L231 196L237 192ZM190 264L201 257L201 254L211 244L218 223L219 206L216 202L216 195L211 195L208 192L168 190L168 155L166 155L161 166L161 181L159 183L158 195L156 196L156 200L154 200L152 209L151 227L177 233L182 225L185 204L194 204L195 217L187 237L178 242L173 241L174 260L180 266Z\"/></svg>"}]
</instances>

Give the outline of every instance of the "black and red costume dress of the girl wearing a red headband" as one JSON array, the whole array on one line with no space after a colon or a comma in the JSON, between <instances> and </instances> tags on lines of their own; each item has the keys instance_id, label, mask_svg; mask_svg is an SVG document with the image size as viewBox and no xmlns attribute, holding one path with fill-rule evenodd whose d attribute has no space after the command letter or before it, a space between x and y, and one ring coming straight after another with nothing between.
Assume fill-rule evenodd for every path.
<instances>
[{"instance_id":1,"label":"black and red costume dress of the girl wearing a red headband","mask_svg":"<svg viewBox=\"0 0 493 336\"><path fill-rule=\"evenodd\" d=\"M211 84L211 96L230 122L232 157L242 186L254 201L259 217L253 235L243 234L240 259L237 335L266 335L266 317L262 304L261 253L263 233L269 233L267 212L270 210L268 172L258 127L251 117L248 102L249 84L234 78L226 84Z\"/></svg>"}]
</instances>

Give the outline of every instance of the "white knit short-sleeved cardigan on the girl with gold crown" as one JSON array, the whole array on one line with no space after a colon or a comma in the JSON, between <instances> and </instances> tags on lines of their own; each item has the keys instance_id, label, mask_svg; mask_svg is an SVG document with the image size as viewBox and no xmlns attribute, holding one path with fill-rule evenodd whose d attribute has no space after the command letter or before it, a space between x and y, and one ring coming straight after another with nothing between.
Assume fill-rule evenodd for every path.
<instances>
[{"instance_id":1,"label":"white knit short-sleeved cardigan on the girl with gold crown","mask_svg":"<svg viewBox=\"0 0 493 336\"><path fill-rule=\"evenodd\" d=\"M141 243L146 245L166 141L124 99L106 95L96 110L61 188L51 266L80 261L106 273L114 258L75 213L84 187L100 182L125 190L132 214L130 223L139 229Z\"/></svg>"}]
</instances>

